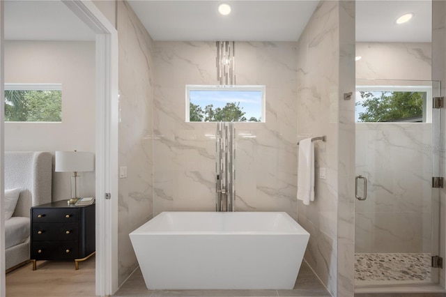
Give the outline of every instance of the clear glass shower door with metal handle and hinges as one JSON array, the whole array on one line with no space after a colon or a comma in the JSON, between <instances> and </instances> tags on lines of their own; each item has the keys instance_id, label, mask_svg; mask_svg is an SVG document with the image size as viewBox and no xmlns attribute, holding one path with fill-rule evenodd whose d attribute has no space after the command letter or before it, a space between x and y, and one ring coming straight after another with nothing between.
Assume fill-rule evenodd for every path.
<instances>
[{"instance_id":1,"label":"clear glass shower door with metal handle and hinges","mask_svg":"<svg viewBox=\"0 0 446 297\"><path fill-rule=\"evenodd\" d=\"M356 84L355 286L436 283L439 82Z\"/></svg>"}]
</instances>

